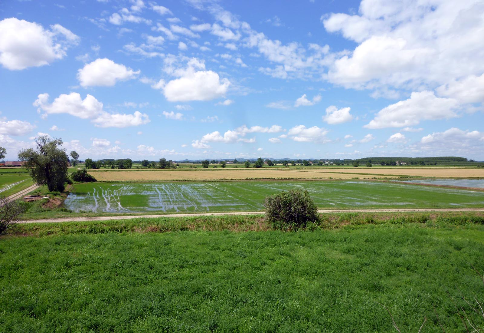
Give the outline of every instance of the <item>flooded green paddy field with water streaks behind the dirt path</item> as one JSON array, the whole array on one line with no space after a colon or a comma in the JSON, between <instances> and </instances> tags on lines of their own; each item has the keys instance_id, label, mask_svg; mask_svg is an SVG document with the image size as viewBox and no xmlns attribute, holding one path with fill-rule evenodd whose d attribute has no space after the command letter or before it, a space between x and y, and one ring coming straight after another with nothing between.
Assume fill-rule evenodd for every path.
<instances>
[{"instance_id":1,"label":"flooded green paddy field with water streaks behind the dirt path","mask_svg":"<svg viewBox=\"0 0 484 333\"><path fill-rule=\"evenodd\" d=\"M264 198L306 189L320 209L482 207L484 193L368 181L265 181L75 184L64 201L75 212L243 212Z\"/></svg>"}]
</instances>

